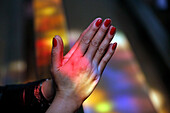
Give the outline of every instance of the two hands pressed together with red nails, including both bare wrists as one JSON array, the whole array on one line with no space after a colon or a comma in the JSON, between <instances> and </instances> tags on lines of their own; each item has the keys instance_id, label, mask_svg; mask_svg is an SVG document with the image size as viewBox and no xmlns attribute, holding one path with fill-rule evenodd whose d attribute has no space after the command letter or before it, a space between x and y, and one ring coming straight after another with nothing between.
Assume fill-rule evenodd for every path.
<instances>
[{"instance_id":1,"label":"two hands pressed together with red nails, including both bare wrists","mask_svg":"<svg viewBox=\"0 0 170 113\"><path fill-rule=\"evenodd\" d=\"M44 97L53 98L46 113L76 112L98 84L114 54L117 43L110 42L115 32L111 19L96 18L65 56L62 39L53 38L52 79L42 84Z\"/></svg>"}]
</instances>

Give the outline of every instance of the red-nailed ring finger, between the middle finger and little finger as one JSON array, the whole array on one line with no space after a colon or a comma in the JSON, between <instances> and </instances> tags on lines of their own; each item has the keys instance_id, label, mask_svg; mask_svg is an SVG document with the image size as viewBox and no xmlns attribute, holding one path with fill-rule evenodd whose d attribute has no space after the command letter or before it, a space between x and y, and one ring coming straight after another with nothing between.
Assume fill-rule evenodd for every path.
<instances>
[{"instance_id":1,"label":"red-nailed ring finger, between the middle finger and little finger","mask_svg":"<svg viewBox=\"0 0 170 113\"><path fill-rule=\"evenodd\" d=\"M106 49L108 48L111 40L113 39L113 36L116 32L116 28L113 26L110 26L109 28L109 32L107 33L106 37L104 38L104 40L102 41L102 43L100 44L99 48L97 49L97 52L93 58L93 63L95 64L99 64L102 56L104 55Z\"/></svg>"}]
</instances>

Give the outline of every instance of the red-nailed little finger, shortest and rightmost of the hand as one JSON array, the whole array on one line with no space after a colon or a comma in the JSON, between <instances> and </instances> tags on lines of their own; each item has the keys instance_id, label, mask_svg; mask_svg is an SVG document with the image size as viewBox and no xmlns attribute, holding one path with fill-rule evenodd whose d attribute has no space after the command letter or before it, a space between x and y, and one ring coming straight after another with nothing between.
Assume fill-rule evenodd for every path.
<instances>
[{"instance_id":1,"label":"red-nailed little finger, shortest and rightmost of the hand","mask_svg":"<svg viewBox=\"0 0 170 113\"><path fill-rule=\"evenodd\" d=\"M106 54L104 55L104 57L100 61L99 66L98 66L98 70L99 70L100 75L102 75L104 68L106 67L108 61L110 60L110 58L114 54L116 47L117 47L116 42L114 44L111 44L108 48L108 51L106 52Z\"/></svg>"}]
</instances>

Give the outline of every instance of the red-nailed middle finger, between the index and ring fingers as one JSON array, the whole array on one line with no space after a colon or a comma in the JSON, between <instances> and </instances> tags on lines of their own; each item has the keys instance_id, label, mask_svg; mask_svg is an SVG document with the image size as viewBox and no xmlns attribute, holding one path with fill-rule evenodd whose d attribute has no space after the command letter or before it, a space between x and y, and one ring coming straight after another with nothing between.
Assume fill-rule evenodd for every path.
<instances>
[{"instance_id":1,"label":"red-nailed middle finger, between the index and ring fingers","mask_svg":"<svg viewBox=\"0 0 170 113\"><path fill-rule=\"evenodd\" d=\"M96 35L90 42L90 46L85 54L85 57L87 57L90 61L96 54L96 50L98 49L101 41L104 39L104 37L108 31L108 28L110 26L110 23L111 23L111 19L105 19L102 26L99 28L98 32L96 33Z\"/></svg>"}]
</instances>

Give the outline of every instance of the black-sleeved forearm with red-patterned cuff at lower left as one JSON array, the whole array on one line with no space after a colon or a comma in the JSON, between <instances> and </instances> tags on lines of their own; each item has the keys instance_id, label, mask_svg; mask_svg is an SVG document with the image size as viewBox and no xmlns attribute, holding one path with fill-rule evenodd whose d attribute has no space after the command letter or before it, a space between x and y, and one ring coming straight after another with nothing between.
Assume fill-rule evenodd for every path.
<instances>
[{"instance_id":1,"label":"black-sleeved forearm with red-patterned cuff at lower left","mask_svg":"<svg viewBox=\"0 0 170 113\"><path fill-rule=\"evenodd\" d=\"M40 96L39 92L40 84L43 81L4 86L3 89L1 88L0 108L9 108L5 109L6 112L45 112L49 105L46 102L42 103L43 96Z\"/></svg>"}]
</instances>

